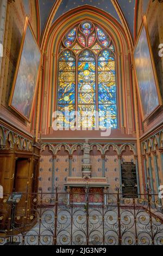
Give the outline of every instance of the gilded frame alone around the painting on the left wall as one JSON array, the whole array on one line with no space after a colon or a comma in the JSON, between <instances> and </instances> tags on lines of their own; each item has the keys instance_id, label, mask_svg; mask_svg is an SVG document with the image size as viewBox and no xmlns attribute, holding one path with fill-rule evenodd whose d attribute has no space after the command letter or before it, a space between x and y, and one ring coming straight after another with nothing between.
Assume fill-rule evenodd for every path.
<instances>
[{"instance_id":1,"label":"gilded frame alone around the painting on the left wall","mask_svg":"<svg viewBox=\"0 0 163 256\"><path fill-rule=\"evenodd\" d=\"M40 57L39 72L37 74L37 79L36 79L36 86L35 86L35 92L34 92L34 97L33 97L32 109L31 109L31 112L30 112L29 119L25 115L23 115L20 111L18 111L14 106L12 106L12 98L13 98L14 91L15 91L15 84L16 84L16 80L17 80L18 69L20 67L20 61L21 61L21 56L22 56L22 51L23 51L23 46L24 46L24 40L26 38L27 27L29 27L30 32L33 35L33 39L35 40L36 46L38 47L38 49L40 51L40 56L41 56ZM15 75L14 75L14 81L13 81L13 84L12 84L11 95L10 95L10 99L9 99L9 107L12 108L17 114L21 115L21 117L23 119L29 121L29 123L31 122L31 119L32 119L32 113L33 113L33 108L34 108L34 100L35 100L35 97L36 97L37 86L38 86L38 83L39 83L39 75L40 75L41 62L42 62L42 52L40 50L39 43L36 40L36 37L35 37L35 34L33 32L32 26L30 25L29 17L26 17L26 22L25 22L25 25L24 25L24 31L23 31L23 35L22 35L20 52L18 54L18 59L17 59L17 65L16 65L16 71L15 71Z\"/></svg>"}]
</instances>

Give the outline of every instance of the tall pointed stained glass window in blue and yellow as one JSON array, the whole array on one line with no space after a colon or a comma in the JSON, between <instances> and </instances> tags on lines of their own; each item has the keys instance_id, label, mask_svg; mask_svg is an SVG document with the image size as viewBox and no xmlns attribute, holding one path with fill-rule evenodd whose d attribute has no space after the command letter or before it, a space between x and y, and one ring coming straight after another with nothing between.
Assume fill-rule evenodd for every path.
<instances>
[{"instance_id":1,"label":"tall pointed stained glass window in blue and yellow","mask_svg":"<svg viewBox=\"0 0 163 256\"><path fill-rule=\"evenodd\" d=\"M90 21L70 29L60 43L57 110L64 115L64 127L72 127L73 115L64 114L65 107L79 113L78 125L85 129L97 125L97 113L101 129L117 129L115 46Z\"/></svg>"}]
</instances>

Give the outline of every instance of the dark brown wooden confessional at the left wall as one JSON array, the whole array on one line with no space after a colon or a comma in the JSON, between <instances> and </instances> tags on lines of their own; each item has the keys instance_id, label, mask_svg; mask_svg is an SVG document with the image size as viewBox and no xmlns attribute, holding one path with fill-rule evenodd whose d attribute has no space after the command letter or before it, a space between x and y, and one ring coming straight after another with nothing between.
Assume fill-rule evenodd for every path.
<instances>
[{"instance_id":1,"label":"dark brown wooden confessional at the left wall","mask_svg":"<svg viewBox=\"0 0 163 256\"><path fill-rule=\"evenodd\" d=\"M36 222L33 198L38 190L40 150L41 146L38 143L34 143L29 151L19 150L17 147L0 150L0 184L4 190L4 198L0 199L1 231L9 230L12 202L8 199L12 193L22 195L15 208L16 227L19 228L25 221L27 223L27 220L30 225Z\"/></svg>"}]
</instances>

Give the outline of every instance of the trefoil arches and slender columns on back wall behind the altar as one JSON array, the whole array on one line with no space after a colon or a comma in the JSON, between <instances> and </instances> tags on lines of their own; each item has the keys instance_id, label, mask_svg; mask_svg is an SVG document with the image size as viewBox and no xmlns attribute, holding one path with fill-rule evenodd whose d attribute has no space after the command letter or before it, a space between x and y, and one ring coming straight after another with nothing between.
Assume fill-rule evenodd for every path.
<instances>
[{"instance_id":1,"label":"trefoil arches and slender columns on back wall behind the altar","mask_svg":"<svg viewBox=\"0 0 163 256\"><path fill-rule=\"evenodd\" d=\"M140 194L140 178L139 178L139 168L138 168L138 156L136 154L136 147L135 147L135 143L132 144L95 144L95 143L90 143L91 145L91 151L93 151L93 148L97 148L97 151L99 151L101 153L101 155L98 155L99 157L101 157L102 160L102 172L101 172L101 176L102 177L106 177L106 173L105 173L105 159L106 156L106 152L110 150L110 148L112 148L112 151L114 151L114 153L116 154L115 156L118 159L118 182L117 182L117 187L120 187L120 192L122 192L122 174L121 174L121 164L122 164L122 157L123 154L126 153L126 151L129 152L130 156L134 157L134 163L136 165L136 178L137 178L137 192ZM82 149L83 144L82 143L76 143L76 144L63 144L60 143L55 147L53 147L53 144L50 143L45 143L42 145L42 152L46 150L46 148L48 148L49 151L51 151L52 153L52 159L53 159L53 163L52 163L52 193L55 192L55 165L56 165L56 160L57 160L57 156L58 156L58 151L61 150L61 147L65 148L65 151L67 151L67 156L69 159L69 164L68 164L68 175L69 177L72 176L72 159L73 159L73 153L74 151L77 150L78 147L80 147L80 149ZM82 176L82 169L81 169L81 176Z\"/></svg>"}]
</instances>

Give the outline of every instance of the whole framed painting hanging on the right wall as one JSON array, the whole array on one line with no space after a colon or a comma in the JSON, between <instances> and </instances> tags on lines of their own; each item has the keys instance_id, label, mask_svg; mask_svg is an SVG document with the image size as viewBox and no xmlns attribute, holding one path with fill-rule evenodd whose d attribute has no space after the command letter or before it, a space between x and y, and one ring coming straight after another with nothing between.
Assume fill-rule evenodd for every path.
<instances>
[{"instance_id":1,"label":"whole framed painting hanging on the right wall","mask_svg":"<svg viewBox=\"0 0 163 256\"><path fill-rule=\"evenodd\" d=\"M140 32L135 42L133 63L142 117L143 121L146 121L162 105L146 16L143 17Z\"/></svg>"}]
</instances>

